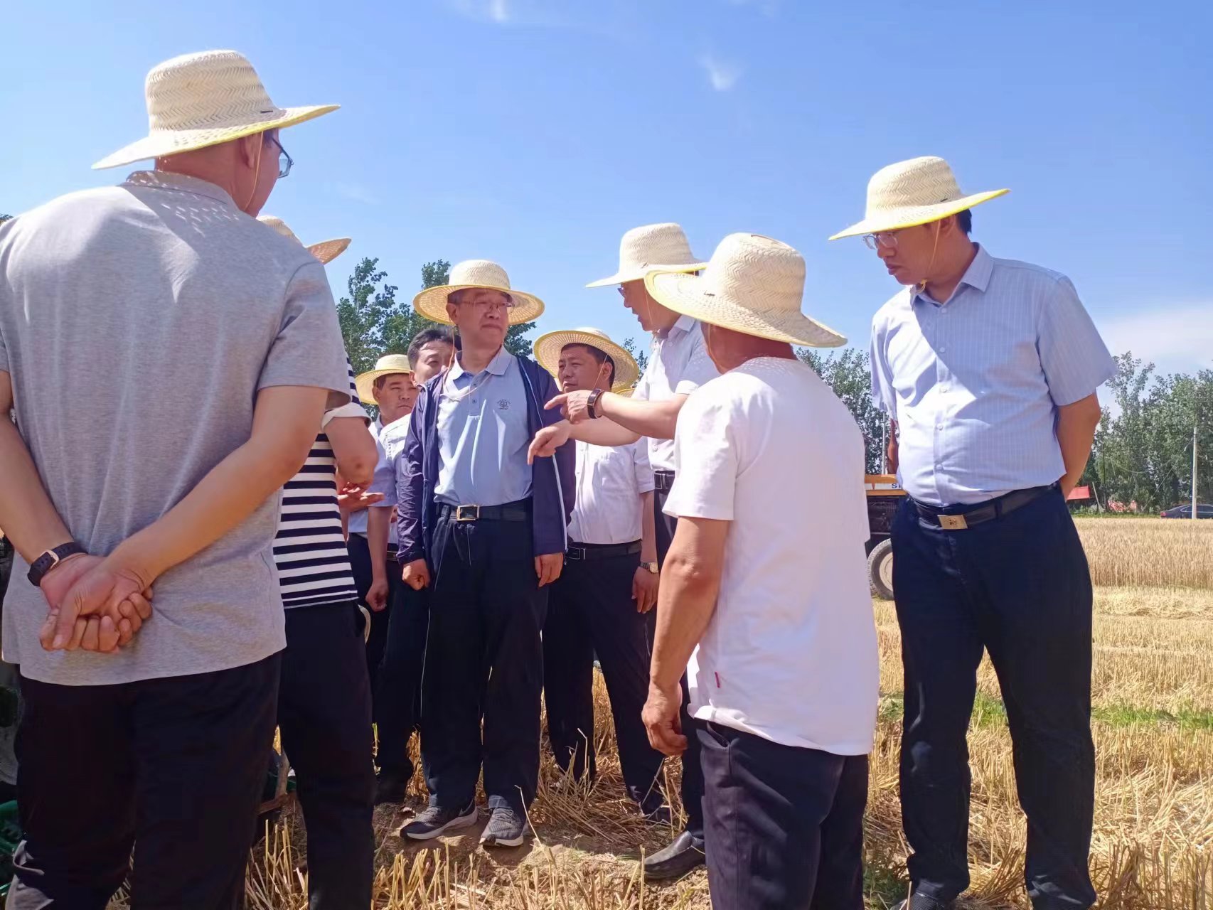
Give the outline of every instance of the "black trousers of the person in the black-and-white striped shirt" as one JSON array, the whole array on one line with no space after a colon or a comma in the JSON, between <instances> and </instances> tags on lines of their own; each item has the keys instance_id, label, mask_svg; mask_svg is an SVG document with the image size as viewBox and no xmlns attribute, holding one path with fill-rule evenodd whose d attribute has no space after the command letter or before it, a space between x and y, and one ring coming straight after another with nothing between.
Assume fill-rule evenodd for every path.
<instances>
[{"instance_id":1,"label":"black trousers of the person in the black-and-white striped shirt","mask_svg":"<svg viewBox=\"0 0 1213 910\"><path fill-rule=\"evenodd\" d=\"M360 625L353 602L286 610L278 727L307 826L311 910L371 903L375 744Z\"/></svg>"}]
</instances>

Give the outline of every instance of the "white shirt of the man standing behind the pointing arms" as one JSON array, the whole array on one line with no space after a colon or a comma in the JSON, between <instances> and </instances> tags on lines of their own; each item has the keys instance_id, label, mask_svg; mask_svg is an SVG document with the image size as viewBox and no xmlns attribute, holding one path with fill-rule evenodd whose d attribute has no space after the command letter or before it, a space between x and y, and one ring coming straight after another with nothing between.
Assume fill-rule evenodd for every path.
<instances>
[{"instance_id":1,"label":"white shirt of the man standing behind the pointing arms","mask_svg":"<svg viewBox=\"0 0 1213 910\"><path fill-rule=\"evenodd\" d=\"M577 504L569 540L631 544L640 539L640 494L653 490L645 439L631 445L577 442Z\"/></svg>"}]
</instances>

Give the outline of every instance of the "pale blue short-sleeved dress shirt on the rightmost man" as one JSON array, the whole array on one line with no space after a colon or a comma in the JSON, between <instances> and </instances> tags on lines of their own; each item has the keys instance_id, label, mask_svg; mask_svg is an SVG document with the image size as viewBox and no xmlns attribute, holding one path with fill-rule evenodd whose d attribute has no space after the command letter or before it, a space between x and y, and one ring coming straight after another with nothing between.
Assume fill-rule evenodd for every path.
<instances>
[{"instance_id":1,"label":"pale blue short-sleeved dress shirt on the rightmost man","mask_svg":"<svg viewBox=\"0 0 1213 910\"><path fill-rule=\"evenodd\" d=\"M945 303L906 288L881 307L871 362L898 478L935 506L1060 479L1057 409L1116 369L1069 278L981 248Z\"/></svg>"}]
</instances>

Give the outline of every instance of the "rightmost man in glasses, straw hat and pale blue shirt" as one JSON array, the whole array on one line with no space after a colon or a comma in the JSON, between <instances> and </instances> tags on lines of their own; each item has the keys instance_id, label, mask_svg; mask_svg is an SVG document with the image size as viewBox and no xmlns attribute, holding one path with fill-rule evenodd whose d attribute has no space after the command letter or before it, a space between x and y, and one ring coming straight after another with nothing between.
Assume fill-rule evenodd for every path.
<instances>
[{"instance_id":1,"label":"rightmost man in glasses, straw hat and pale blue shirt","mask_svg":"<svg viewBox=\"0 0 1213 910\"><path fill-rule=\"evenodd\" d=\"M989 652L1027 815L1032 905L1086 908L1094 803L1090 576L1065 497L1115 372L1070 279L969 239L974 205L940 158L872 177L864 235L899 291L872 320L872 394L910 494L893 524L905 671L904 906L968 887L966 732ZM833 238L831 238L833 239Z\"/></svg>"}]
</instances>

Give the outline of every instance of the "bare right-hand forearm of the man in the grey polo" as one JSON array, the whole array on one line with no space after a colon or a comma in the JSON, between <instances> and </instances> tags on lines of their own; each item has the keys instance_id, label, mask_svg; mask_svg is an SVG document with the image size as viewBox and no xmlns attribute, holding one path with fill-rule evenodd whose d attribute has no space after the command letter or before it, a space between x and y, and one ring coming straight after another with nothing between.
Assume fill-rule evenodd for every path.
<instances>
[{"instance_id":1,"label":"bare right-hand forearm of the man in the grey polo","mask_svg":"<svg viewBox=\"0 0 1213 910\"><path fill-rule=\"evenodd\" d=\"M303 465L326 397L323 388L264 389L249 442L211 468L161 518L123 541L109 558L150 585L230 531Z\"/></svg>"}]
</instances>

